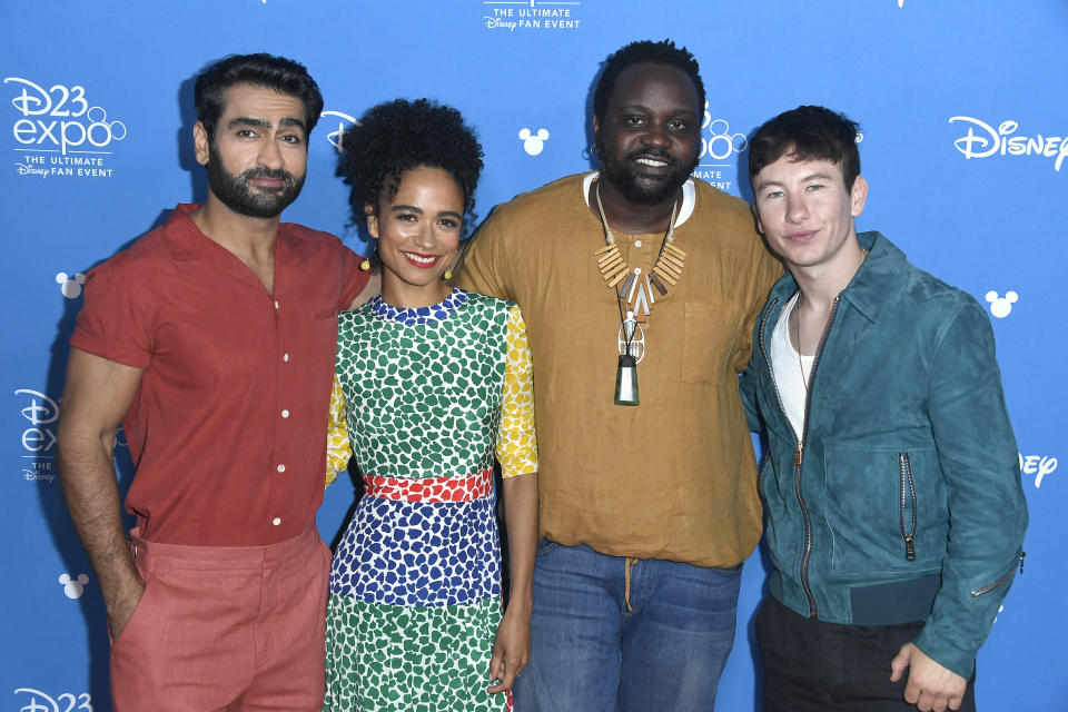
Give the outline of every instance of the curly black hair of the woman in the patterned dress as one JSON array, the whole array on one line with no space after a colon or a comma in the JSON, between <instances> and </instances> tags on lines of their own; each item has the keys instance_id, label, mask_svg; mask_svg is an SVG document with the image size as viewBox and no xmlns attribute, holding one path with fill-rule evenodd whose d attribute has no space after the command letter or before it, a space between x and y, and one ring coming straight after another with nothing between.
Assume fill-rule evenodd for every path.
<instances>
[{"instance_id":1,"label":"curly black hair of the woman in the patterned dress","mask_svg":"<svg viewBox=\"0 0 1068 712\"><path fill-rule=\"evenodd\" d=\"M342 136L337 175L352 187L352 224L364 222L365 206L377 210L379 200L392 199L405 171L438 168L453 177L464 196L466 235L475 220L482 156L474 130L453 107L429 99L396 99L372 107Z\"/></svg>"}]
</instances>

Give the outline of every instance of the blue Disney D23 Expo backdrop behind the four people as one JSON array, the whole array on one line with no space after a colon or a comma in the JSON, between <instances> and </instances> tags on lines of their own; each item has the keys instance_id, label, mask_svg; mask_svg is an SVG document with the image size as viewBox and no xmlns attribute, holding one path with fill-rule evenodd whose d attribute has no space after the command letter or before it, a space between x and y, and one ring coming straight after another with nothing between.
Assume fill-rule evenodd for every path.
<instances>
[{"instance_id":1,"label":"blue Disney D23 Expo backdrop behind the four people","mask_svg":"<svg viewBox=\"0 0 1068 712\"><path fill-rule=\"evenodd\" d=\"M863 127L859 229L989 309L1030 506L1027 564L979 655L985 710L1068 710L1064 548L1068 348L1065 0L2 0L0 30L0 712L110 710L100 591L62 503L56 424L86 273L202 200L192 81L234 52L305 63L326 106L287 220L343 236L338 136L368 107L432 97L477 127L477 211L591 168L592 87L635 39L672 38L708 88L695 174L751 198L746 136L801 103ZM249 345L255 348L254 344ZM219 443L225 447L226 443ZM120 442L119 478L132 466ZM654 472L654 471L652 471ZM654 475L651 475L654 476ZM353 504L330 487L334 540ZM716 708L758 709L743 574ZM889 675L889 662L887 673Z\"/></svg>"}]
</instances>

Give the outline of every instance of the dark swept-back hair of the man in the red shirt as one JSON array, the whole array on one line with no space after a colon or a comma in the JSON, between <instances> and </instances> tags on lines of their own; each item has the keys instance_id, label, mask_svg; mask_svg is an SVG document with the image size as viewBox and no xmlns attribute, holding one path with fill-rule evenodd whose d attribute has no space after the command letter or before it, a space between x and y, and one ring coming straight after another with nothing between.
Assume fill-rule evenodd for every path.
<instances>
[{"instance_id":1,"label":"dark swept-back hair of the man in the red shirt","mask_svg":"<svg viewBox=\"0 0 1068 712\"><path fill-rule=\"evenodd\" d=\"M197 77L194 101L197 118L204 123L208 140L215 137L216 125L226 110L222 93L234 85L265 87L278 93L296 97L304 103L305 128L308 134L323 113L323 95L304 65L285 57L264 52L230 55L205 69Z\"/></svg>"}]
</instances>

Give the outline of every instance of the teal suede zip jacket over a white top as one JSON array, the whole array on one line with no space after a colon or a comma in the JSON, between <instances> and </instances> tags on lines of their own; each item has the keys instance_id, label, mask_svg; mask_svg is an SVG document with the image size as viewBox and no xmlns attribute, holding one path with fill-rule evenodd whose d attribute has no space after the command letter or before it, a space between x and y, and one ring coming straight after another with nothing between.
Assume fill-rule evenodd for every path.
<instances>
[{"instance_id":1,"label":"teal suede zip jacket over a white top","mask_svg":"<svg viewBox=\"0 0 1068 712\"><path fill-rule=\"evenodd\" d=\"M888 239L858 239L869 255L812 367L803 448L769 363L798 288L789 274L756 319L742 395L750 427L768 438L769 587L821 621L923 620L914 644L969 678L1027 526L993 332L978 301Z\"/></svg>"}]
</instances>

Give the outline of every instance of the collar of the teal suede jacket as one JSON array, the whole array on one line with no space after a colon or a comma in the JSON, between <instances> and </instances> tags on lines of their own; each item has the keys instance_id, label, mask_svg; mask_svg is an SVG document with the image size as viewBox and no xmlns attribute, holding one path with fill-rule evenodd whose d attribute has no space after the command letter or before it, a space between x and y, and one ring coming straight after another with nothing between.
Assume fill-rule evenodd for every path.
<instances>
[{"instance_id":1,"label":"collar of the teal suede jacket","mask_svg":"<svg viewBox=\"0 0 1068 712\"><path fill-rule=\"evenodd\" d=\"M893 243L877 231L858 233L857 241L868 250L868 257L842 291L842 300L848 301L869 322L876 322L882 306L901 287L898 276L906 257ZM797 290L798 283L788 271L772 287L769 303L778 298L780 305L785 304Z\"/></svg>"}]
</instances>

